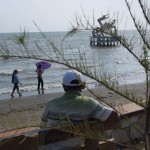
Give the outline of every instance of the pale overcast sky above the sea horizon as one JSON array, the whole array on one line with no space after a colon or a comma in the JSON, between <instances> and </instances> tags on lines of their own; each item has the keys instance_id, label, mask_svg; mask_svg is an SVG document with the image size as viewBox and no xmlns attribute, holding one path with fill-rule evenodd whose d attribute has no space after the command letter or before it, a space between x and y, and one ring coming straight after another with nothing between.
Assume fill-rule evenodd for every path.
<instances>
[{"instance_id":1,"label":"pale overcast sky above the sea horizon","mask_svg":"<svg viewBox=\"0 0 150 150\"><path fill-rule=\"evenodd\" d=\"M140 16L134 3L133 9ZM93 10L96 19L102 14L119 13L119 29L134 29L124 0L0 0L0 4L0 33L20 32L20 28L36 32L33 21L42 31L68 31L75 13L82 15L81 6L89 18Z\"/></svg>"}]
</instances>

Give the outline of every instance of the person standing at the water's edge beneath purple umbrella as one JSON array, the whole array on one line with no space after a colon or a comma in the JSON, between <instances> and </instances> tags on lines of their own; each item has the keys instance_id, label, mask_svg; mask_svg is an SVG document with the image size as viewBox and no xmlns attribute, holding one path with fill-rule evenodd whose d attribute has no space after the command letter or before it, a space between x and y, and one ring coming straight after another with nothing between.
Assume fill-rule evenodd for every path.
<instances>
[{"instance_id":1,"label":"person standing at the water's edge beneath purple umbrella","mask_svg":"<svg viewBox=\"0 0 150 150\"><path fill-rule=\"evenodd\" d=\"M40 86L41 86L42 90L44 90L44 82L43 82L43 78L42 78L44 69L42 68L42 65L38 65L36 72L37 72L37 78L38 78L37 89L40 90Z\"/></svg>"}]
</instances>

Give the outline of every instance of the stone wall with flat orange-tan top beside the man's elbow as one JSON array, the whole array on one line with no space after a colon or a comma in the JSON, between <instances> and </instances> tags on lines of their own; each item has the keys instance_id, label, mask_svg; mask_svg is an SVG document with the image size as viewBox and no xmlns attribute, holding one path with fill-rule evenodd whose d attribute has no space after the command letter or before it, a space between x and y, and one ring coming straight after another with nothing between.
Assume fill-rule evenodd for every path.
<instances>
[{"instance_id":1,"label":"stone wall with flat orange-tan top beside the man's elbow","mask_svg":"<svg viewBox=\"0 0 150 150\"><path fill-rule=\"evenodd\" d=\"M120 128L109 133L117 142L131 142L143 139L145 132L145 110L134 104L122 106Z\"/></svg>"}]
</instances>

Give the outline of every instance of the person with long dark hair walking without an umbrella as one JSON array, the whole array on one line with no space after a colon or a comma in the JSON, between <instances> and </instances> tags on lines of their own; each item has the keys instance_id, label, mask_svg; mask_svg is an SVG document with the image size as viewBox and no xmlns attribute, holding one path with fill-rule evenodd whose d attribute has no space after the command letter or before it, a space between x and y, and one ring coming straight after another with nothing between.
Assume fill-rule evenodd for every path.
<instances>
[{"instance_id":1,"label":"person with long dark hair walking without an umbrella","mask_svg":"<svg viewBox=\"0 0 150 150\"><path fill-rule=\"evenodd\" d=\"M18 70L14 70L13 74L12 74L12 83L14 84L14 87L13 87L13 90L12 90L12 93L11 93L11 97L14 97L13 94L14 94L15 90L17 90L19 96L22 96L20 91L19 91L19 85L18 84L21 85L21 83L18 79L17 73L18 73Z\"/></svg>"}]
</instances>

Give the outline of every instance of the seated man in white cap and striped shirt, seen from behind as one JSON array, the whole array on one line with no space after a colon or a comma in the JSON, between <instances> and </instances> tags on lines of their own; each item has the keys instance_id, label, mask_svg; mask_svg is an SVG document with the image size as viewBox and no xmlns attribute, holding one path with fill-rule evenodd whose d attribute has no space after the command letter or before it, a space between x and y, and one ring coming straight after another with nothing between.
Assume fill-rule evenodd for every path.
<instances>
[{"instance_id":1,"label":"seated man in white cap and striped shirt, seen from behind","mask_svg":"<svg viewBox=\"0 0 150 150\"><path fill-rule=\"evenodd\" d=\"M66 72L62 86L65 91L64 95L46 104L41 117L41 127L61 126L68 118L73 124L83 123L84 120L90 122L94 119L98 121L98 126L103 124L103 127L111 129L119 124L119 116L116 111L82 94L85 82L82 81L81 73L72 70Z\"/></svg>"}]
</instances>

